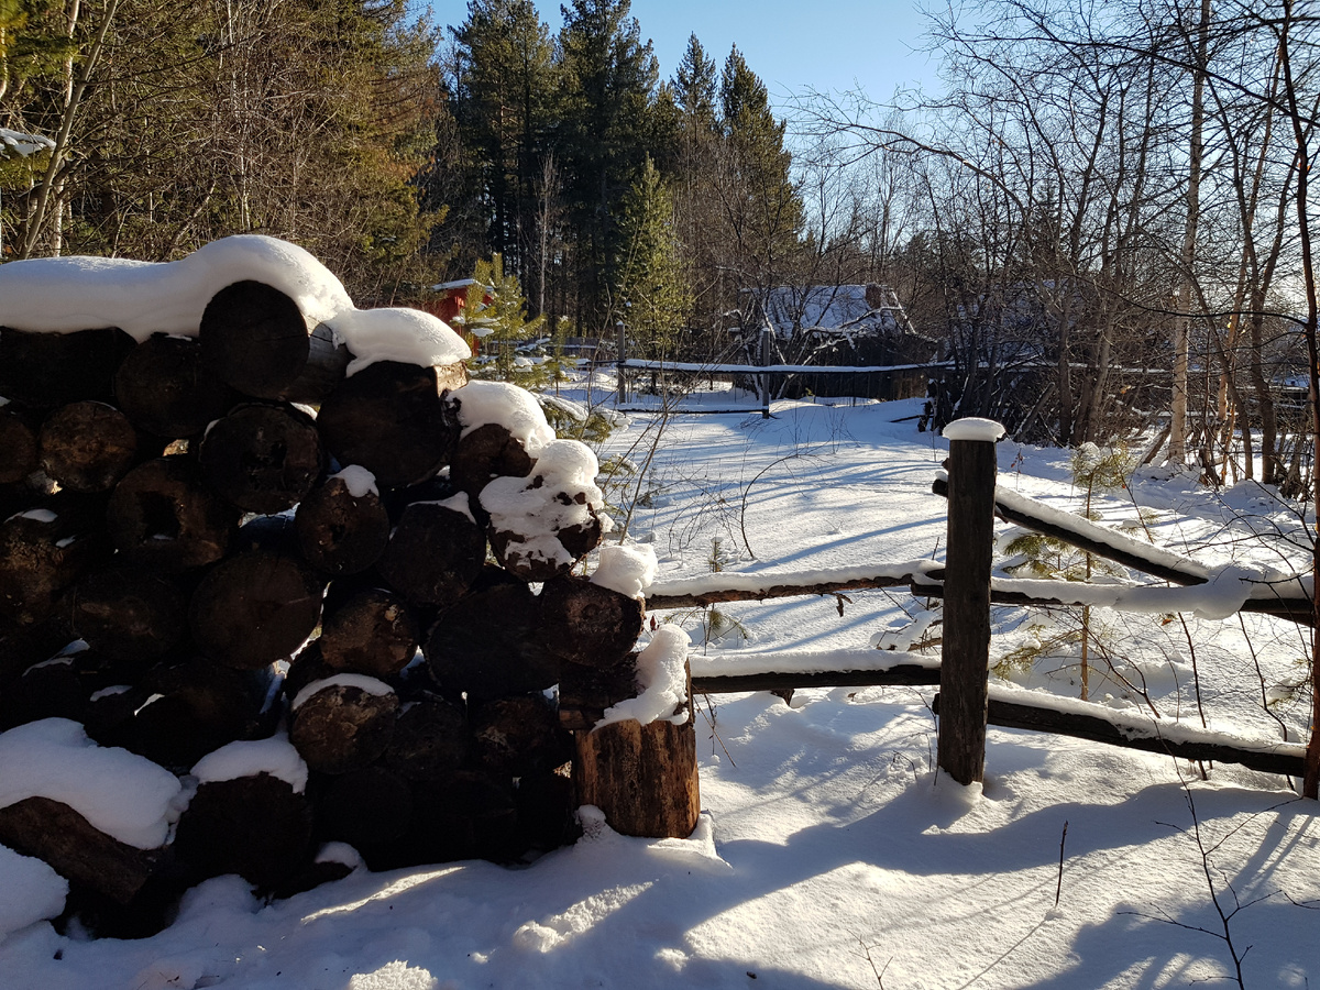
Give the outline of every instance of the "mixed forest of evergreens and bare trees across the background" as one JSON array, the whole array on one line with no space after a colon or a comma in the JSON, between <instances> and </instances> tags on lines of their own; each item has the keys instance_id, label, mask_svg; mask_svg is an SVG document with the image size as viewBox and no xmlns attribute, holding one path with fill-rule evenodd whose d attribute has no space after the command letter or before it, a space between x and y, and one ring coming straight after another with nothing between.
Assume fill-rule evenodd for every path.
<instances>
[{"instance_id":1,"label":"mixed forest of evergreens and bare trees across the background","mask_svg":"<svg viewBox=\"0 0 1320 990\"><path fill-rule=\"evenodd\" d=\"M1309 488L1313 4L932 5L939 92L787 112L737 46L661 78L628 0L562 15L0 0L0 257L263 232L360 305L477 275L507 335L682 360L779 286L882 284L950 414ZM867 363L789 322L780 360Z\"/></svg>"}]
</instances>

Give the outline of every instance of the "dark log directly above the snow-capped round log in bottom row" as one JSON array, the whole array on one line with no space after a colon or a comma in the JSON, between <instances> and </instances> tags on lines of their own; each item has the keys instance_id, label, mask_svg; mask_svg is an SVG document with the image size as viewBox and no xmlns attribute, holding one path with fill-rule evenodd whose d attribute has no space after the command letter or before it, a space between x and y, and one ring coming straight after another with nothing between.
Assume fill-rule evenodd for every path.
<instances>
[{"instance_id":1,"label":"dark log directly above the snow-capped round log in bottom row","mask_svg":"<svg viewBox=\"0 0 1320 990\"><path fill-rule=\"evenodd\" d=\"M133 689L139 701L123 721L88 722L88 733L183 771L220 746L269 735L280 714L267 704L276 684L269 667L236 671L205 657L160 664Z\"/></svg>"}]
</instances>

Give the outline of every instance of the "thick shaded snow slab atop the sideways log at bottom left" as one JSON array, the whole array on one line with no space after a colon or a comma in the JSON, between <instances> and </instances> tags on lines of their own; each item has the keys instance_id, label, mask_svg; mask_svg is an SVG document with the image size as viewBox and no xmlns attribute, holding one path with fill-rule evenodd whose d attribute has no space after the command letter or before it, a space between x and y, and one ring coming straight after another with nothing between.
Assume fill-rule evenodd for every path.
<instances>
[{"instance_id":1,"label":"thick shaded snow slab atop the sideways log at bottom left","mask_svg":"<svg viewBox=\"0 0 1320 990\"><path fill-rule=\"evenodd\" d=\"M0 808L26 797L67 804L137 849L165 843L178 777L128 750L102 748L77 722L45 718L0 735Z\"/></svg>"}]
</instances>

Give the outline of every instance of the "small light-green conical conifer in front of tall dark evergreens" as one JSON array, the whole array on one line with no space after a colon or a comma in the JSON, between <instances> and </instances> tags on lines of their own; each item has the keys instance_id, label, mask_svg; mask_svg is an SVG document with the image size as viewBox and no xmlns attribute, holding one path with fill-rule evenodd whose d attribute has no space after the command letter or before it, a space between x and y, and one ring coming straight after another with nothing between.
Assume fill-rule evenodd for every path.
<instances>
[{"instance_id":1,"label":"small light-green conical conifer in front of tall dark evergreens","mask_svg":"<svg viewBox=\"0 0 1320 990\"><path fill-rule=\"evenodd\" d=\"M651 158L623 198L618 296L647 356L673 356L690 308L673 228L673 202Z\"/></svg>"}]
</instances>

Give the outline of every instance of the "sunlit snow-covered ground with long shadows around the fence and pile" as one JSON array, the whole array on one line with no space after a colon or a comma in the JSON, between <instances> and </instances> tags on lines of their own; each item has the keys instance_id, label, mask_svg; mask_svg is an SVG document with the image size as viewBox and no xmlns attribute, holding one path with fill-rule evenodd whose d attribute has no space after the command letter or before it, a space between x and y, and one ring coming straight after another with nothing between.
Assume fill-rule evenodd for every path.
<instances>
[{"instance_id":1,"label":"sunlit snow-covered ground with long shadows around the fence and pile","mask_svg":"<svg viewBox=\"0 0 1320 990\"><path fill-rule=\"evenodd\" d=\"M916 432L916 412L780 403L768 421L675 416L663 430L630 413L602 459L649 465L616 473L609 498L628 539L655 548L660 582L940 558L931 480L948 445ZM1068 451L1005 442L999 463L1001 484L1085 502ZM1147 475L1092 508L1210 566L1305 556L1303 520L1254 486L1214 496ZM932 618L902 589L847 598L842 616L826 597L656 618L690 632L697 671L906 647ZM1077 697L1076 611L994 619L1006 684ZM1304 738L1305 643L1287 622L1188 615L1184 628L1097 609L1088 643L1094 701ZM0 987L1320 986L1320 826L1288 781L993 729L983 789L968 789L933 771L932 694L700 700L705 812L688 840L624 838L587 810L577 845L517 869L358 870L271 904L219 878L152 939L18 929L0 941ZM0 920L38 890L0 887Z\"/></svg>"}]
</instances>

